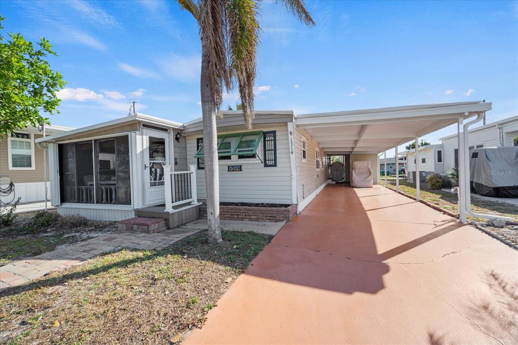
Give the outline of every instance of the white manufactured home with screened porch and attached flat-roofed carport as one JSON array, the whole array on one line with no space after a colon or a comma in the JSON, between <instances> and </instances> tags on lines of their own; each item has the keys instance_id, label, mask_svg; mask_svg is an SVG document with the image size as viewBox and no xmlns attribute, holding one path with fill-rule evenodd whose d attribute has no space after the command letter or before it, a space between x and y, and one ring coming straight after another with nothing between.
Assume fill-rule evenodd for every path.
<instances>
[{"instance_id":1,"label":"white manufactured home with screened porch and attached flat-roofed carport","mask_svg":"<svg viewBox=\"0 0 518 345\"><path fill-rule=\"evenodd\" d=\"M491 109L491 103L418 105L297 116L241 111L217 118L220 202L296 205L301 212L328 183L328 157L378 154ZM205 199L202 120L177 123L136 113L36 140L48 148L51 203L61 214L97 220L163 217L170 227L199 217ZM344 210L345 211L345 210ZM163 214L166 214L164 217Z\"/></svg>"}]
</instances>

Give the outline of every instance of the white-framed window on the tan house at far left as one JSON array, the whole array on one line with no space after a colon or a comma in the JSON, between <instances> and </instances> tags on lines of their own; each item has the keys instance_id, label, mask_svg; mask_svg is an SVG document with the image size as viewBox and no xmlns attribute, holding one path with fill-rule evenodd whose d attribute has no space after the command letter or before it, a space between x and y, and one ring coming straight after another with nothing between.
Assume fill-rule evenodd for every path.
<instances>
[{"instance_id":1,"label":"white-framed window on the tan house at far left","mask_svg":"<svg viewBox=\"0 0 518 345\"><path fill-rule=\"evenodd\" d=\"M13 132L8 138L7 149L10 170L34 170L34 135Z\"/></svg>"}]
</instances>

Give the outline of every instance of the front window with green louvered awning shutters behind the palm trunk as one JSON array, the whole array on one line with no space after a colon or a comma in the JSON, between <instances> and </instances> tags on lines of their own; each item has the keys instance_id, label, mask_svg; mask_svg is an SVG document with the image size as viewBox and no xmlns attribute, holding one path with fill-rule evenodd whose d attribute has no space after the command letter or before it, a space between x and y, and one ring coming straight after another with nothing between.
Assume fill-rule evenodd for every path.
<instances>
[{"instance_id":1,"label":"front window with green louvered awning shutters behind the palm trunk","mask_svg":"<svg viewBox=\"0 0 518 345\"><path fill-rule=\"evenodd\" d=\"M259 161L261 160L261 139L263 132L244 132L218 136L219 161ZM203 138L197 138L197 151L194 157L204 158ZM199 161L198 161L199 162ZM203 161L202 161L203 162ZM204 163L204 162L203 162ZM199 164L198 164L199 168Z\"/></svg>"}]
</instances>

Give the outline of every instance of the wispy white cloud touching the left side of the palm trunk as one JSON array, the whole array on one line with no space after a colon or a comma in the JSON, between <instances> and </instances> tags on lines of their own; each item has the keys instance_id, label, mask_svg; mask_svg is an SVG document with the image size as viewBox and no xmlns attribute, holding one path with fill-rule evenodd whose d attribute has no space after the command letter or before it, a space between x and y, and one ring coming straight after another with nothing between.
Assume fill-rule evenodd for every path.
<instances>
[{"instance_id":1,"label":"wispy white cloud touching the left side of the palm trunk","mask_svg":"<svg viewBox=\"0 0 518 345\"><path fill-rule=\"evenodd\" d=\"M199 55L182 57L171 54L159 62L164 72L180 81L199 82L202 70L202 57Z\"/></svg>"}]
</instances>

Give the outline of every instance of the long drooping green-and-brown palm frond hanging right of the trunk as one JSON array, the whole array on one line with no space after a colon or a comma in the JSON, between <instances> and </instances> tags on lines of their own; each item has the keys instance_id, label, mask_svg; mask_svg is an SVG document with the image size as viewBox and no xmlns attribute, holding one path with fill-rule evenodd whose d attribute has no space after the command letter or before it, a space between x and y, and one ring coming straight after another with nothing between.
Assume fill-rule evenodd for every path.
<instances>
[{"instance_id":1,"label":"long drooping green-and-brown palm frond hanging right of the trunk","mask_svg":"<svg viewBox=\"0 0 518 345\"><path fill-rule=\"evenodd\" d=\"M258 13L255 0L225 0L229 79L231 82L237 80L244 123L248 128L252 128L255 117L255 52L261 30Z\"/></svg>"}]
</instances>

